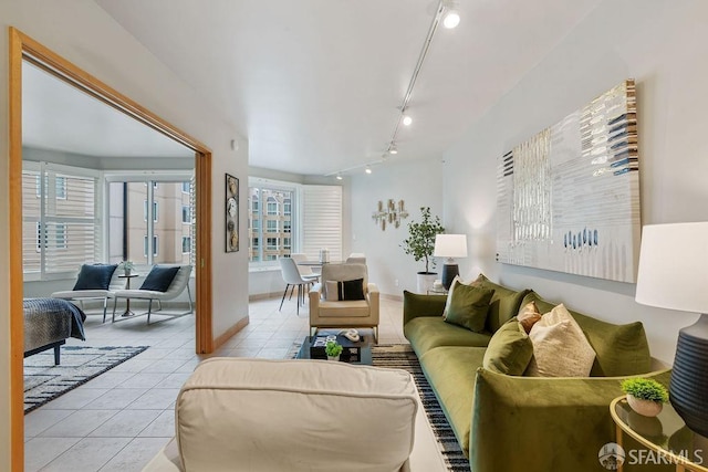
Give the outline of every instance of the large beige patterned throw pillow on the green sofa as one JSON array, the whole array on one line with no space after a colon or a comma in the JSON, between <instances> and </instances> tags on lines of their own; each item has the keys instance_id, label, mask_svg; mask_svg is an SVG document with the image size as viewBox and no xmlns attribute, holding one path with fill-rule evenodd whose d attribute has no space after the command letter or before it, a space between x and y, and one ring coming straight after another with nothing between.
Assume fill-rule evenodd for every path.
<instances>
[{"instance_id":1,"label":"large beige patterned throw pillow on the green sofa","mask_svg":"<svg viewBox=\"0 0 708 472\"><path fill-rule=\"evenodd\" d=\"M595 352L580 325L563 304L544 314L529 337L533 357L525 375L531 377L587 377Z\"/></svg>"}]
</instances>

